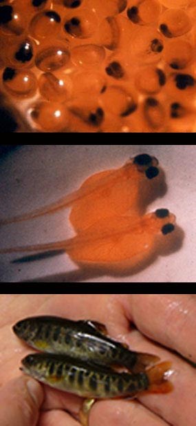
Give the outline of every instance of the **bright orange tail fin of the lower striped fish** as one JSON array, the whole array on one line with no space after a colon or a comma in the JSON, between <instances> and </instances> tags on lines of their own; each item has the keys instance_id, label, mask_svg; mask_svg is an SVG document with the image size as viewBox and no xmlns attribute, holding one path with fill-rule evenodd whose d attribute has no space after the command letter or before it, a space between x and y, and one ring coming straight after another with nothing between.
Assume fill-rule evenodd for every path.
<instances>
[{"instance_id":1,"label":"bright orange tail fin of the lower striped fish","mask_svg":"<svg viewBox=\"0 0 196 426\"><path fill-rule=\"evenodd\" d=\"M173 389L173 385L166 378L166 373L171 369L171 362L160 362L146 371L149 379L148 392L153 394L167 394Z\"/></svg>"}]
</instances>

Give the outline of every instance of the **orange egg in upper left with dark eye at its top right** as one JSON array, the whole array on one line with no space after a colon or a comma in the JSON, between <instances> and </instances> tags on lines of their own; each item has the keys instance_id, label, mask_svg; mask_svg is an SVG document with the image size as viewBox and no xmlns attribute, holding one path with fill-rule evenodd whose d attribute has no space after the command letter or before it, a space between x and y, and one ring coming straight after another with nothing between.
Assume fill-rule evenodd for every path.
<instances>
[{"instance_id":1,"label":"orange egg in upper left with dark eye at its top right","mask_svg":"<svg viewBox=\"0 0 196 426\"><path fill-rule=\"evenodd\" d=\"M30 34L35 39L50 39L61 30L61 17L54 10L44 10L36 14L30 23Z\"/></svg>"}]
</instances>

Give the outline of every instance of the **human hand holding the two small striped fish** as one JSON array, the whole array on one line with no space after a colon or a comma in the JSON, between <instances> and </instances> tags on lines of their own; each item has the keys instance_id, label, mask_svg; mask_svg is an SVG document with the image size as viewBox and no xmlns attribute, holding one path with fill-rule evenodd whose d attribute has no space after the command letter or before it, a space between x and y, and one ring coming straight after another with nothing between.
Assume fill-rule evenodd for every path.
<instances>
[{"instance_id":1,"label":"human hand holding the two small striped fish","mask_svg":"<svg viewBox=\"0 0 196 426\"><path fill-rule=\"evenodd\" d=\"M174 389L170 394L141 395L137 401L99 401L91 409L89 425L130 426L133 423L143 426L147 423L148 426L195 426L195 370L186 360L170 351L175 350L186 358L196 360L195 295L3 295L0 306L1 382L5 383L1 391L5 395L9 394L6 391L9 385L6 383L10 378L18 376L20 360L30 352L12 333L11 326L14 322L34 315L90 318L103 322L110 336L127 342L131 349L148 351L157 354L162 360L171 360ZM138 329L130 329L131 322ZM30 379L23 380L26 383ZM11 397L12 387L9 389ZM79 425L77 415L81 398L47 386L42 389L45 393L44 401L41 404L40 396L40 402L36 406L38 412L41 405L39 418L35 416L34 423L26 422L24 426ZM41 395L41 391L39 394ZM10 399L7 397L6 402L4 398L3 405L7 406L7 414L10 404ZM9 426L17 425L17 416L19 414L15 412L14 423L9 422ZM6 423L2 423L4 424ZM23 426L23 423L19 422L19 425Z\"/></svg>"}]
</instances>

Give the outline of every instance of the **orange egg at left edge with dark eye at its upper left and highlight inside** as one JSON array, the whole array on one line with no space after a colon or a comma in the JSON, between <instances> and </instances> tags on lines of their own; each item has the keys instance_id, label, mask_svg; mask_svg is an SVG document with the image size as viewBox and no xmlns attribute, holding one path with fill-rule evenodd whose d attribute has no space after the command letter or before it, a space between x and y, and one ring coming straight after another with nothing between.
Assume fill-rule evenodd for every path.
<instances>
[{"instance_id":1,"label":"orange egg at left edge with dark eye at its upper left and highlight inside","mask_svg":"<svg viewBox=\"0 0 196 426\"><path fill-rule=\"evenodd\" d=\"M2 78L3 87L14 97L31 97L36 92L36 77L30 70L6 68Z\"/></svg>"}]
</instances>

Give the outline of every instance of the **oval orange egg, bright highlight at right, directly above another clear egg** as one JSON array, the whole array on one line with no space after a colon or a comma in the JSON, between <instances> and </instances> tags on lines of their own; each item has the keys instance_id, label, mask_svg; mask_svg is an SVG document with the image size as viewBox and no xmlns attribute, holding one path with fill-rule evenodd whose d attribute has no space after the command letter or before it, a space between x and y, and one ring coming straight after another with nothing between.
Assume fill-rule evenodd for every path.
<instances>
[{"instance_id":1,"label":"oval orange egg, bright highlight at right, directly above another clear egg","mask_svg":"<svg viewBox=\"0 0 196 426\"><path fill-rule=\"evenodd\" d=\"M37 53L35 64L42 71L54 71L65 66L69 57L69 50L64 45L45 46Z\"/></svg>"}]
</instances>

